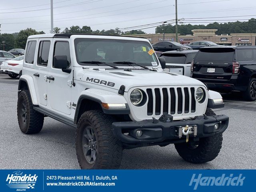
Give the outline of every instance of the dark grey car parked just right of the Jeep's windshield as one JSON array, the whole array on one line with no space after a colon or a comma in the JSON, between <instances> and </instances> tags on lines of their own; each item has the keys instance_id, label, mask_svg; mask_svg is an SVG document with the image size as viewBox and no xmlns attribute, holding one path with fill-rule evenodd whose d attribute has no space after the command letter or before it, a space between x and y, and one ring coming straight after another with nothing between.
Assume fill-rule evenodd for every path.
<instances>
[{"instance_id":1,"label":"dark grey car parked just right of the Jeep's windshield","mask_svg":"<svg viewBox=\"0 0 256 192\"><path fill-rule=\"evenodd\" d=\"M162 51L162 52L174 51L174 50L178 50L178 49L192 49L189 46L182 45L182 44L174 42L174 41L159 42L159 43L154 44L153 48L155 51Z\"/></svg>"}]
</instances>

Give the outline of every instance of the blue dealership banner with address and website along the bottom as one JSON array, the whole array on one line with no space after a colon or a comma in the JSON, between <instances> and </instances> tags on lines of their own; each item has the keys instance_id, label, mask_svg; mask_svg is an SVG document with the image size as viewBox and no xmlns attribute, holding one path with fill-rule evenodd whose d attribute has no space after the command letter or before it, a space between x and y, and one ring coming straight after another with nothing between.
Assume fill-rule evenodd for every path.
<instances>
[{"instance_id":1,"label":"blue dealership banner with address and website along the bottom","mask_svg":"<svg viewBox=\"0 0 256 192\"><path fill-rule=\"evenodd\" d=\"M256 170L0 170L3 192L251 191Z\"/></svg>"}]
</instances>

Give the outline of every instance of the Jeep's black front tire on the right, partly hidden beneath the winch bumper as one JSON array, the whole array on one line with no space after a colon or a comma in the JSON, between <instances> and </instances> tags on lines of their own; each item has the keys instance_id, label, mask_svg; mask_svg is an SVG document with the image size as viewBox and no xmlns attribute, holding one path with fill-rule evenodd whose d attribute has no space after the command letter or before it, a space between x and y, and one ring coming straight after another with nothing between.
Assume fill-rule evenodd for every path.
<instances>
[{"instance_id":1,"label":"Jeep's black front tire on the right, partly hidden beneath the winch bumper","mask_svg":"<svg viewBox=\"0 0 256 192\"><path fill-rule=\"evenodd\" d=\"M216 115L210 108L206 109L207 116ZM214 160L222 147L222 134L200 138L199 142L174 144L178 154L191 163L205 163Z\"/></svg>"}]
</instances>

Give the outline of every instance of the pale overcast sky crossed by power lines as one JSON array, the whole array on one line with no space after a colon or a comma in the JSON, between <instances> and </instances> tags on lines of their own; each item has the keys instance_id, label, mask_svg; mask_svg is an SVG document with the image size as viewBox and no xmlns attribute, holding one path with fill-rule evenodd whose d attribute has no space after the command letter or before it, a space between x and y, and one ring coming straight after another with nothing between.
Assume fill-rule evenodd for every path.
<instances>
[{"instance_id":1,"label":"pale overcast sky crossed by power lines","mask_svg":"<svg viewBox=\"0 0 256 192\"><path fill-rule=\"evenodd\" d=\"M53 0L54 27L90 26L92 30L126 28L175 19L175 0ZM33 28L50 32L50 0L0 0L0 33ZM26 7L26 8L25 8ZM31 11L33 10L33 11ZM184 24L256 18L256 0L178 0ZM209 18L227 17L230 18ZM245 16L245 17L241 17ZM207 18L207 19L194 19ZM207 21L198 21L207 20ZM210 21L209 21L210 20ZM172 21L170 21L172 22ZM155 25L160 25L157 23ZM153 25L154 26L154 25ZM151 26L141 26L142 29ZM123 29L127 31L129 29ZM154 33L154 28L142 29Z\"/></svg>"}]
</instances>

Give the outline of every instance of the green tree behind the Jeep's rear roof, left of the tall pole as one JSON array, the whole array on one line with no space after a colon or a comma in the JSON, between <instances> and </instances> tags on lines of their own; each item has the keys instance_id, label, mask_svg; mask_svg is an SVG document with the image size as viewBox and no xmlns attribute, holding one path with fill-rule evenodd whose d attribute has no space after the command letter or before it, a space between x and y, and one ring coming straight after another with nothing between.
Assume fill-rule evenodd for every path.
<instances>
[{"instance_id":1,"label":"green tree behind the Jeep's rear roof, left of the tall pole","mask_svg":"<svg viewBox=\"0 0 256 192\"><path fill-rule=\"evenodd\" d=\"M17 48L25 49L28 36L37 35L37 34L44 34L44 32L43 31L38 32L32 28L20 30L20 32L18 33L17 38L16 38Z\"/></svg>"}]
</instances>

